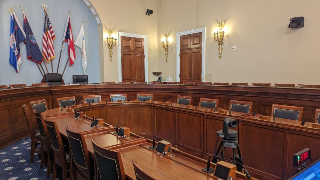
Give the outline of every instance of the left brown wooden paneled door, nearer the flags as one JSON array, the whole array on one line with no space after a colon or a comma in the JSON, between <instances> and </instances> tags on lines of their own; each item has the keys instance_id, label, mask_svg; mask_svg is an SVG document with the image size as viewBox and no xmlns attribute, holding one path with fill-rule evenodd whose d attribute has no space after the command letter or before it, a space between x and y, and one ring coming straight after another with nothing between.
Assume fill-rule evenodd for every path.
<instances>
[{"instance_id":1,"label":"left brown wooden paneled door, nearer the flags","mask_svg":"<svg viewBox=\"0 0 320 180\"><path fill-rule=\"evenodd\" d=\"M144 39L121 37L122 81L145 81Z\"/></svg>"}]
</instances>

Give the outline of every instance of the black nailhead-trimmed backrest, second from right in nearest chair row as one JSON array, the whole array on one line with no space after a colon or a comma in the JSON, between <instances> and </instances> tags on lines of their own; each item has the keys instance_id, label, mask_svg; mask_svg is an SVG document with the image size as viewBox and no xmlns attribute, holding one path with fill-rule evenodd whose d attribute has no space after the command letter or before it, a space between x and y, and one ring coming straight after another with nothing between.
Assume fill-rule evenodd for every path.
<instances>
[{"instance_id":1,"label":"black nailhead-trimmed backrest, second from right in nearest chair row","mask_svg":"<svg viewBox=\"0 0 320 180\"><path fill-rule=\"evenodd\" d=\"M100 147L93 139L91 141L100 179L125 180L120 153Z\"/></svg>"}]
</instances>

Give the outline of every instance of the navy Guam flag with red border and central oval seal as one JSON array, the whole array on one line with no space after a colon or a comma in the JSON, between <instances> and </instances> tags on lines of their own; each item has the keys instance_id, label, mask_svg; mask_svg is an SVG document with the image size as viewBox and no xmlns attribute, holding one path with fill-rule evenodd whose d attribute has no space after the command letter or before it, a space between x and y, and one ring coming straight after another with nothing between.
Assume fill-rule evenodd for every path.
<instances>
[{"instance_id":1,"label":"navy Guam flag with red border and central oval seal","mask_svg":"<svg viewBox=\"0 0 320 180\"><path fill-rule=\"evenodd\" d=\"M37 44L36 38L32 33L27 17L22 11L23 14L23 30L26 33L26 40L24 44L27 46L27 57L28 60L35 63L41 64L43 61L42 53Z\"/></svg>"}]
</instances>

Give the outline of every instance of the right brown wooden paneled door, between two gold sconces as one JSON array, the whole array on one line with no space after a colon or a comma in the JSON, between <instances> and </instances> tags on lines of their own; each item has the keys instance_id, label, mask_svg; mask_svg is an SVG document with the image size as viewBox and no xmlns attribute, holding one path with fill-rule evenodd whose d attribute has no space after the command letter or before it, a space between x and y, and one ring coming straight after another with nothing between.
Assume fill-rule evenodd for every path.
<instances>
[{"instance_id":1,"label":"right brown wooden paneled door, between two gold sconces","mask_svg":"<svg viewBox=\"0 0 320 180\"><path fill-rule=\"evenodd\" d=\"M180 82L201 82L202 33L180 36Z\"/></svg>"}]
</instances>

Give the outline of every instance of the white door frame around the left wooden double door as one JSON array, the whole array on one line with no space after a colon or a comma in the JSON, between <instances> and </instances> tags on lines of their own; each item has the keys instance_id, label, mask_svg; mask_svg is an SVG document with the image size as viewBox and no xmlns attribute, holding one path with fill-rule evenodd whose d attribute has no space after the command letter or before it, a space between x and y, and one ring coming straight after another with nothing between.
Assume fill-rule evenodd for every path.
<instances>
[{"instance_id":1,"label":"white door frame around the left wooden double door","mask_svg":"<svg viewBox=\"0 0 320 180\"><path fill-rule=\"evenodd\" d=\"M118 32L118 80L122 81L122 66L121 66L121 36L137 37L144 39L144 81L148 82L148 36L141 34L132 34L126 32Z\"/></svg>"}]
</instances>

